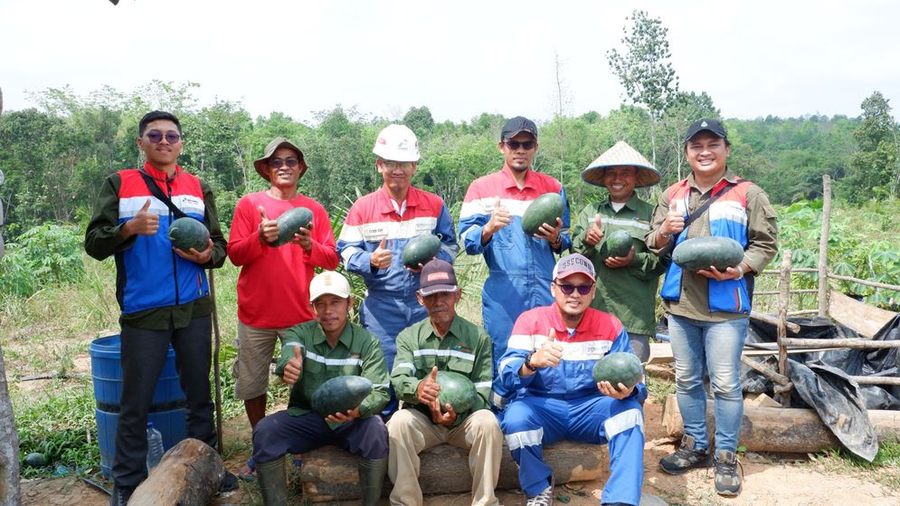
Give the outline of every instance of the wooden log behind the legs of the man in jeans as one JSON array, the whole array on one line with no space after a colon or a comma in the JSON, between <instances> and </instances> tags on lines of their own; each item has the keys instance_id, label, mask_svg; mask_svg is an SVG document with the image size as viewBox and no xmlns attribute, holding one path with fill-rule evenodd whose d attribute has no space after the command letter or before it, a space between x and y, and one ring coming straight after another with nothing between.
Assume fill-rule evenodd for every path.
<instances>
[{"instance_id":1,"label":"wooden log behind the legs of the man in jeans","mask_svg":"<svg viewBox=\"0 0 900 506\"><path fill-rule=\"evenodd\" d=\"M715 434L715 406L706 403L706 423L709 434ZM879 441L900 437L900 411L868 410ZM674 394L663 405L662 423L666 433L680 438L684 422ZM752 452L810 453L838 448L838 438L831 434L819 415L811 409L790 407L757 407L744 405L744 419L738 444Z\"/></svg>"}]
</instances>

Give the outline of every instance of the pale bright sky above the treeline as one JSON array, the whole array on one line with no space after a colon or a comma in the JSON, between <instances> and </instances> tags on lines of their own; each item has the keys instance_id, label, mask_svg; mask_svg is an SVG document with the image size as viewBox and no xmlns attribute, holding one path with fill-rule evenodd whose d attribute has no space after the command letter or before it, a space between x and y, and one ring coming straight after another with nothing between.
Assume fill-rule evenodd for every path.
<instances>
[{"instance_id":1,"label":"pale bright sky above the treeline","mask_svg":"<svg viewBox=\"0 0 900 506\"><path fill-rule=\"evenodd\" d=\"M725 118L858 116L881 91L900 104L900 2L0 0L5 110L29 92L200 84L201 105L312 121L341 104L437 121L482 112L551 119L557 64L567 115L628 99L607 63L634 9L668 28L682 91ZM895 117L897 113L895 111Z\"/></svg>"}]
</instances>

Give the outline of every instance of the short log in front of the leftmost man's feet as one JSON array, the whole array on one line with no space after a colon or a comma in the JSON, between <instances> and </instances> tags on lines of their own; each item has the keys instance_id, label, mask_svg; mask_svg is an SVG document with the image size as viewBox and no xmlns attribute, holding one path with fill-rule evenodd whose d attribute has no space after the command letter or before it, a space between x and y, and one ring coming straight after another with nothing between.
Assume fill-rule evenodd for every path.
<instances>
[{"instance_id":1,"label":"short log in front of the leftmost man's feet","mask_svg":"<svg viewBox=\"0 0 900 506\"><path fill-rule=\"evenodd\" d=\"M219 453L199 439L185 439L163 455L128 501L130 506L209 504L219 492L225 465Z\"/></svg>"}]
</instances>

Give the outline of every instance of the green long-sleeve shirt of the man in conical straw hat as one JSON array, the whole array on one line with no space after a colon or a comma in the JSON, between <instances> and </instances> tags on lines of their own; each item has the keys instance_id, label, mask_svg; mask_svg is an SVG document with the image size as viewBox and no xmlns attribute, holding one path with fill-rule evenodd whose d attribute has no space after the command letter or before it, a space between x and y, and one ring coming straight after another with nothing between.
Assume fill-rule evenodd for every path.
<instances>
[{"instance_id":1,"label":"green long-sleeve shirt of the man in conical straw hat","mask_svg":"<svg viewBox=\"0 0 900 506\"><path fill-rule=\"evenodd\" d=\"M604 237L600 243L588 246L584 237L592 227L595 215L601 215ZM612 208L609 199L586 205L572 228L573 251L589 258L597 271L597 294L591 306L618 317L630 333L648 336L654 334L656 326L653 310L659 276L666 272L659 257L644 243L652 215L653 205L635 194L618 212ZM606 238L617 230L631 235L634 258L627 267L610 269L603 263L609 256Z\"/></svg>"}]
</instances>

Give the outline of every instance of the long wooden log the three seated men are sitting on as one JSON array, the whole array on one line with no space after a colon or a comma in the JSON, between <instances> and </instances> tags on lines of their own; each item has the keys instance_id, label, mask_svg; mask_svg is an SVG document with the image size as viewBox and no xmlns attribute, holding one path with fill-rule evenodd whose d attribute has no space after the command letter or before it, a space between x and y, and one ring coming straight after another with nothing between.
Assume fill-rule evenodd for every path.
<instances>
[{"instance_id":1,"label":"long wooden log the three seated men are sitting on","mask_svg":"<svg viewBox=\"0 0 900 506\"><path fill-rule=\"evenodd\" d=\"M517 489L518 467L507 445L503 445L497 489ZM420 453L419 483L425 494L467 493L472 490L469 452L440 444ZM605 444L564 441L544 447L545 463L554 468L556 484L605 479L609 476L609 453ZM336 446L323 446L303 455L300 469L303 497L307 501L347 501L360 498L356 458ZM393 484L385 479L384 494Z\"/></svg>"}]
</instances>

